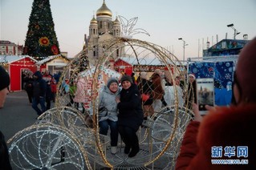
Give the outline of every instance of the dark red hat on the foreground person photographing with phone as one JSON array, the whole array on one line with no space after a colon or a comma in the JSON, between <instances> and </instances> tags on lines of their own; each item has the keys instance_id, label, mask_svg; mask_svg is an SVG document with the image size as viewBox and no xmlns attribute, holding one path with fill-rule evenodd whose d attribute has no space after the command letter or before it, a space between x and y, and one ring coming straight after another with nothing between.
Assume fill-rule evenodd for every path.
<instances>
[{"instance_id":1,"label":"dark red hat on the foreground person photographing with phone","mask_svg":"<svg viewBox=\"0 0 256 170\"><path fill-rule=\"evenodd\" d=\"M256 38L251 40L238 57L236 75L241 87L242 101L256 102L256 80L254 79L256 66Z\"/></svg>"}]
</instances>

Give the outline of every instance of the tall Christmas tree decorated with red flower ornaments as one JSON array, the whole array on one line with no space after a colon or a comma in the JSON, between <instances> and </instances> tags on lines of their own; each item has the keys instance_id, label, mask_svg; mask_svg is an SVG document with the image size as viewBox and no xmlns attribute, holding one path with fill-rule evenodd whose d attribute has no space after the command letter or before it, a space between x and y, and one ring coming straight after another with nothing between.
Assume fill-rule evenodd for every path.
<instances>
[{"instance_id":1,"label":"tall Christmas tree decorated with red flower ornaments","mask_svg":"<svg viewBox=\"0 0 256 170\"><path fill-rule=\"evenodd\" d=\"M30 55L38 60L59 55L59 42L49 0L33 2L23 55Z\"/></svg>"}]
</instances>

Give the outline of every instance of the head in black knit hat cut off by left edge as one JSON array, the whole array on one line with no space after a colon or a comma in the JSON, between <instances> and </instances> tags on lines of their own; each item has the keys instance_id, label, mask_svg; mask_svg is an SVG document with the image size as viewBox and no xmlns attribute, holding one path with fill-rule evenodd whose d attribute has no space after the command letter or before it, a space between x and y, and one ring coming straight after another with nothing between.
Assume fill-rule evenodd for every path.
<instances>
[{"instance_id":1,"label":"head in black knit hat cut off by left edge","mask_svg":"<svg viewBox=\"0 0 256 170\"><path fill-rule=\"evenodd\" d=\"M0 109L6 102L6 95L9 93L10 76L6 70L0 66Z\"/></svg>"}]
</instances>

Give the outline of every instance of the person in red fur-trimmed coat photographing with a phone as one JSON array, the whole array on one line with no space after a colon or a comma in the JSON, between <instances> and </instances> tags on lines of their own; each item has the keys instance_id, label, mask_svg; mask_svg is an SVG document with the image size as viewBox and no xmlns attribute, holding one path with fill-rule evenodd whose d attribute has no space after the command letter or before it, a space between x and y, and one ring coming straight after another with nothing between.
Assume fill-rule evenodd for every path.
<instances>
[{"instance_id":1,"label":"person in red fur-trimmed coat photographing with a phone","mask_svg":"<svg viewBox=\"0 0 256 170\"><path fill-rule=\"evenodd\" d=\"M256 169L255 66L256 38L238 58L235 102L230 107L208 107L204 118L193 104L195 119L186 129L176 169ZM235 160L236 164L215 164L215 160Z\"/></svg>"}]
</instances>

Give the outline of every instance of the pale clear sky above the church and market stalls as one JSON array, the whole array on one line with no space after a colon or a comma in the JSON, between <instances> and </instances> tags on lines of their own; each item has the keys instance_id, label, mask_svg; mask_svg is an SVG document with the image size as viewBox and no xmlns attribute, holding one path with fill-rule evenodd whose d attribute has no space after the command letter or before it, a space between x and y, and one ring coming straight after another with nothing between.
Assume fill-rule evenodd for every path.
<instances>
[{"instance_id":1,"label":"pale clear sky above the church and market stalls","mask_svg":"<svg viewBox=\"0 0 256 170\"><path fill-rule=\"evenodd\" d=\"M27 26L34 0L0 0L0 39L24 44ZM255 0L106 0L112 10L112 19L122 15L130 19L138 17L136 28L147 30L150 36L136 34L133 38L168 48L178 59L201 57L207 38L215 44L221 39L234 38L234 30L227 27L233 23L241 32L236 38L256 36ZM93 14L102 6L103 0L50 0L55 32L61 51L72 57L83 47L83 36ZM198 40L200 41L198 44ZM202 43L204 40L204 44ZM204 46L203 46L204 45Z\"/></svg>"}]
</instances>

